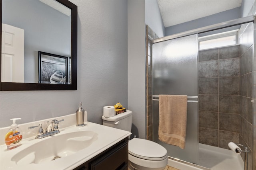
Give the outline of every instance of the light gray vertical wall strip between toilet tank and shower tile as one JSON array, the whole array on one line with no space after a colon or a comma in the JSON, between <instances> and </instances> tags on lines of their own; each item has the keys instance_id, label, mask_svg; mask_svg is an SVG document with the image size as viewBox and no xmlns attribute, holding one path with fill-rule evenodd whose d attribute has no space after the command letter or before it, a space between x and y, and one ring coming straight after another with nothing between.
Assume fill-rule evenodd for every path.
<instances>
[{"instance_id":1,"label":"light gray vertical wall strip between toilet tank and shower tile","mask_svg":"<svg viewBox=\"0 0 256 170\"><path fill-rule=\"evenodd\" d=\"M145 1L128 0L128 108L132 137L146 138Z\"/></svg>"}]
</instances>

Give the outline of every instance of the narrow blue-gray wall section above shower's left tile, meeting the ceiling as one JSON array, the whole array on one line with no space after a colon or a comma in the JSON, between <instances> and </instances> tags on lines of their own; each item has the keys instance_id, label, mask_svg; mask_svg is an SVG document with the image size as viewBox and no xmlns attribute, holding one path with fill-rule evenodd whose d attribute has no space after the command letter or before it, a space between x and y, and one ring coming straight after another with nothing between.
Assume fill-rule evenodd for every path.
<instances>
[{"instance_id":1,"label":"narrow blue-gray wall section above shower's left tile, meeting the ceiling","mask_svg":"<svg viewBox=\"0 0 256 170\"><path fill-rule=\"evenodd\" d=\"M145 23L158 37L164 37L164 22L156 0L145 0Z\"/></svg>"}]
</instances>

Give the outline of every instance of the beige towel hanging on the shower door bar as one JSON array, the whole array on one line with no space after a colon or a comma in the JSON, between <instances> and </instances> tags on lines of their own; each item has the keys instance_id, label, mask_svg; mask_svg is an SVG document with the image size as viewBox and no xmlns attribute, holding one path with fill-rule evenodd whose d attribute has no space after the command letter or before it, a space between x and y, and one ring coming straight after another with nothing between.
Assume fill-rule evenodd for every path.
<instances>
[{"instance_id":1,"label":"beige towel hanging on the shower door bar","mask_svg":"<svg viewBox=\"0 0 256 170\"><path fill-rule=\"evenodd\" d=\"M158 138L181 149L185 148L187 101L185 95L159 95Z\"/></svg>"}]
</instances>

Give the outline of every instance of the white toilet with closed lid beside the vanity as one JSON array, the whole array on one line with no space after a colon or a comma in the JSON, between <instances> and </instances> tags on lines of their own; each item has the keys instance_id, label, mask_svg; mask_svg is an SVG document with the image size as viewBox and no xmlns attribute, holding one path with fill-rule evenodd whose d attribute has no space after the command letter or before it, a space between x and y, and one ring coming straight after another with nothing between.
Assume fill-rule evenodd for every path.
<instances>
[{"instance_id":1,"label":"white toilet with closed lid beside the vanity","mask_svg":"<svg viewBox=\"0 0 256 170\"><path fill-rule=\"evenodd\" d=\"M102 121L105 126L131 131L132 111L108 118L102 115ZM168 164L167 150L153 141L133 138L128 142L128 160L132 170L163 170Z\"/></svg>"}]
</instances>

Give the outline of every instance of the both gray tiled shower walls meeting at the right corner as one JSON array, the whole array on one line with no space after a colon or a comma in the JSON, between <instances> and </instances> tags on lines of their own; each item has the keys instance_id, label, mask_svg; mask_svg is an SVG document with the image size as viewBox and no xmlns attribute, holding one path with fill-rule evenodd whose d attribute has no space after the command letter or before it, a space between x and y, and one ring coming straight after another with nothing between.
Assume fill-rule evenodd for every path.
<instances>
[{"instance_id":1,"label":"both gray tiled shower walls meeting at the right corner","mask_svg":"<svg viewBox=\"0 0 256 170\"><path fill-rule=\"evenodd\" d=\"M239 44L199 51L199 142L225 149L229 142L253 146L253 23L242 25ZM241 154L244 158L244 154Z\"/></svg>"}]
</instances>

